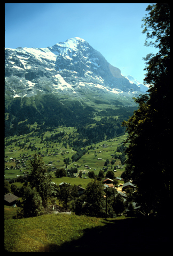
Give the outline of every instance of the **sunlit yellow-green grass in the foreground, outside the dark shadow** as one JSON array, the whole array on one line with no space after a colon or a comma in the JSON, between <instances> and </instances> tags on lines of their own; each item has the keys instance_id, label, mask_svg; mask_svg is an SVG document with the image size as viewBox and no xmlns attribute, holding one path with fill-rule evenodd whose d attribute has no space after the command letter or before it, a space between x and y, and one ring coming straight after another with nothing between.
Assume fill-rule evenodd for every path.
<instances>
[{"instance_id":1,"label":"sunlit yellow-green grass in the foreground, outside the dark shadow","mask_svg":"<svg viewBox=\"0 0 173 256\"><path fill-rule=\"evenodd\" d=\"M102 226L95 217L50 214L21 220L5 221L7 252L52 252L63 243L76 240L86 228Z\"/></svg>"}]
</instances>

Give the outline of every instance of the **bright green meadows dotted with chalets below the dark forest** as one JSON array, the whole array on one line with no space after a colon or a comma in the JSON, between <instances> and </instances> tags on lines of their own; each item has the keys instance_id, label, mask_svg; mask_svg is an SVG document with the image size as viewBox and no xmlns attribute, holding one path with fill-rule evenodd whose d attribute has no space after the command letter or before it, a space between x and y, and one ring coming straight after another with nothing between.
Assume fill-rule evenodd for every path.
<instances>
[{"instance_id":1,"label":"bright green meadows dotted with chalets below the dark forest","mask_svg":"<svg viewBox=\"0 0 173 256\"><path fill-rule=\"evenodd\" d=\"M36 128L37 125L32 125L31 128ZM5 138L5 178L15 178L17 175L23 175L24 172L30 172L29 160L32 159L35 152L40 153L43 158L45 165L52 169L53 167L61 168L66 167L64 163L64 158L69 158L70 162L68 169L70 167L75 167L75 164L80 166L78 171L94 171L98 174L100 170L103 170L106 159L109 159L108 170L114 170L114 165L120 165L120 159L115 159L114 165L111 165L111 160L113 159L114 153L117 147L123 143L127 134L122 136L117 136L111 140L101 141L96 144L87 146L85 149L87 152L83 155L77 162L72 162L72 156L76 153L73 148L70 148L68 144L66 146L61 143L54 143L52 141L46 141L51 135L59 134L64 132L65 139L68 139L69 134L76 136L76 129L73 127L60 127L54 129L53 131L46 131L44 135L38 135L34 131L27 135L14 135L13 137ZM92 146L92 149L90 149ZM34 150L32 148L34 147ZM83 148L82 148L83 149ZM119 156L121 153L116 152ZM98 160L102 158L102 160ZM14 161L15 160L15 161ZM20 162L17 163L17 160ZM50 164L50 162L52 162ZM89 166L86 169L85 165ZM124 166L120 165L122 169L117 169L115 173L116 177L120 177L121 173L124 171ZM53 174L54 172L52 172ZM88 178L86 174L83 174L82 178Z\"/></svg>"}]
</instances>

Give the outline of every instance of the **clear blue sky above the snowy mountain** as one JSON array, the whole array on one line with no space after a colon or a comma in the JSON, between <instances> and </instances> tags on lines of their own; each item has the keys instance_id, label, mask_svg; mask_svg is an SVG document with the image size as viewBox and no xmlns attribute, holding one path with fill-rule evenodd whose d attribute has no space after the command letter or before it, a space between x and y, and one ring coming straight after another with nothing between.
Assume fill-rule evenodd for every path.
<instances>
[{"instance_id":1,"label":"clear blue sky above the snowy mountain","mask_svg":"<svg viewBox=\"0 0 173 256\"><path fill-rule=\"evenodd\" d=\"M5 48L48 47L78 36L106 60L141 83L145 61L141 19L147 3L5 4Z\"/></svg>"}]
</instances>

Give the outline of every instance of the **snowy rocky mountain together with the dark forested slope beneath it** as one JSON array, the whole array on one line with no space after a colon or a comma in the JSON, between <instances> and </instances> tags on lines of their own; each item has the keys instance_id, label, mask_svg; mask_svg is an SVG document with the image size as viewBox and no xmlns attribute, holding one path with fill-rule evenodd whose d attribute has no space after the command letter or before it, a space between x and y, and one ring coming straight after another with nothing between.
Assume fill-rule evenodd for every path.
<instances>
[{"instance_id":1,"label":"snowy rocky mountain together with the dark forested slope beneath it","mask_svg":"<svg viewBox=\"0 0 173 256\"><path fill-rule=\"evenodd\" d=\"M5 49L5 136L78 129L77 147L124 133L137 109L135 83L83 39L46 48Z\"/></svg>"}]
</instances>

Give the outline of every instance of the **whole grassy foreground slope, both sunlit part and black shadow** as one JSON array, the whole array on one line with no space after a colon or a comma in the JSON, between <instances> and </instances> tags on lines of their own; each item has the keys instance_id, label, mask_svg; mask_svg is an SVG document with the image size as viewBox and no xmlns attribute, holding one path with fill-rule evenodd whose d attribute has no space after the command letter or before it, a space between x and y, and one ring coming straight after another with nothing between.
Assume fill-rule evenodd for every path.
<instances>
[{"instance_id":1,"label":"whole grassy foreground slope, both sunlit part and black shadow","mask_svg":"<svg viewBox=\"0 0 173 256\"><path fill-rule=\"evenodd\" d=\"M169 225L156 219L49 214L9 217L4 230L6 252L169 251Z\"/></svg>"}]
</instances>

